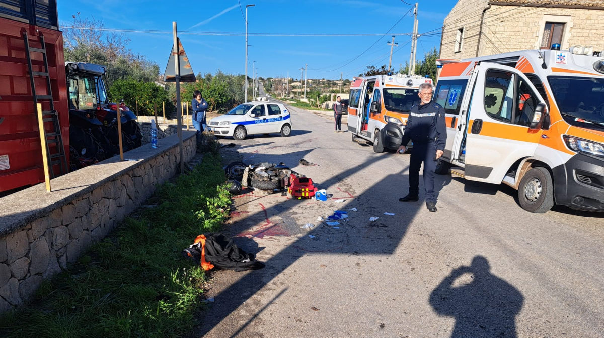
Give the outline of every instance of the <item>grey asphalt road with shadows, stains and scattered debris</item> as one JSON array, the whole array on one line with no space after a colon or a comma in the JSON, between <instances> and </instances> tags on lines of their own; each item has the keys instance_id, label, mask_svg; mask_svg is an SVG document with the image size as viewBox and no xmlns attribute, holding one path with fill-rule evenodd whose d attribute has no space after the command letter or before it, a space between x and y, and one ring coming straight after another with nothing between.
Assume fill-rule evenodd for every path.
<instances>
[{"instance_id":1,"label":"grey asphalt road with shadows, stains and scattered debris","mask_svg":"<svg viewBox=\"0 0 604 338\"><path fill-rule=\"evenodd\" d=\"M266 268L213 272L194 336L604 337L602 214L528 213L507 186L449 175L429 213L398 201L408 154L376 154L334 133L329 113L290 110L291 137L225 139L237 145L225 156L283 161L333 198L236 196L225 233ZM335 210L350 221L317 221Z\"/></svg>"}]
</instances>

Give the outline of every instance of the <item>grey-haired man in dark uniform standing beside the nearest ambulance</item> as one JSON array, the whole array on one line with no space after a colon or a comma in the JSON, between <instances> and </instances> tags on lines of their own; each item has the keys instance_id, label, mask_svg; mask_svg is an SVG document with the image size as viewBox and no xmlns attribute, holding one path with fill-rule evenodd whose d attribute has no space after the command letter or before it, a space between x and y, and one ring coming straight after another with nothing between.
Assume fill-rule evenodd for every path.
<instances>
[{"instance_id":1,"label":"grey-haired man in dark uniform standing beside the nearest ambulance","mask_svg":"<svg viewBox=\"0 0 604 338\"><path fill-rule=\"evenodd\" d=\"M419 168L423 162L423 187L426 190L426 207L435 212L436 194L434 193L434 169L439 157L443 155L447 140L445 110L432 102L432 84L419 86L419 105L411 107L403 134L402 145L397 150L405 152L405 145L413 141L411 161L409 163L409 194L400 198L400 202L419 200Z\"/></svg>"}]
</instances>

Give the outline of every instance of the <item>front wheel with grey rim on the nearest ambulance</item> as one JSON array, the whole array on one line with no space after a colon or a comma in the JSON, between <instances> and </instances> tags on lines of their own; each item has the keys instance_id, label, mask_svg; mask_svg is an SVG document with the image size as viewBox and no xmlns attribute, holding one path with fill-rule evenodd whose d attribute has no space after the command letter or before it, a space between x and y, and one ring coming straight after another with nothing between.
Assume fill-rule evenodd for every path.
<instances>
[{"instance_id":1,"label":"front wheel with grey rim on the nearest ambulance","mask_svg":"<svg viewBox=\"0 0 604 338\"><path fill-rule=\"evenodd\" d=\"M554 206L553 190L550 172L544 167L535 167L520 181L518 202L526 211L545 213Z\"/></svg>"}]
</instances>

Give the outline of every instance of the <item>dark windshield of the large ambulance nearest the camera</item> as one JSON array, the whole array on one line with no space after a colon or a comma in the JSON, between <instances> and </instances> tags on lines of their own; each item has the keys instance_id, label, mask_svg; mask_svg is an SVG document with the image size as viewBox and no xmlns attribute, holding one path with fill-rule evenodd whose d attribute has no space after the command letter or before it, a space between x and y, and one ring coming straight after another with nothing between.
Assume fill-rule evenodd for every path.
<instances>
[{"instance_id":1,"label":"dark windshield of the large ambulance nearest the camera","mask_svg":"<svg viewBox=\"0 0 604 338\"><path fill-rule=\"evenodd\" d=\"M567 122L604 127L604 78L548 77L547 80Z\"/></svg>"}]
</instances>

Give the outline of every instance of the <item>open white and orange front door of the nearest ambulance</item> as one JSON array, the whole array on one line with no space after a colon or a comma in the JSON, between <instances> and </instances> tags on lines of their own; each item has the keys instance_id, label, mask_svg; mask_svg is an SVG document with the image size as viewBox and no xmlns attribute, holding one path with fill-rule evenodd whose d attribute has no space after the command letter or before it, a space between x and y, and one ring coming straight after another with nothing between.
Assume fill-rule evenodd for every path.
<instances>
[{"instance_id":1,"label":"open white and orange front door of the nearest ambulance","mask_svg":"<svg viewBox=\"0 0 604 338\"><path fill-rule=\"evenodd\" d=\"M472 77L460 144L465 154L459 159L467 179L499 184L516 160L534 154L541 133L528 130L528 122L544 101L531 81L512 67L483 62Z\"/></svg>"}]
</instances>

